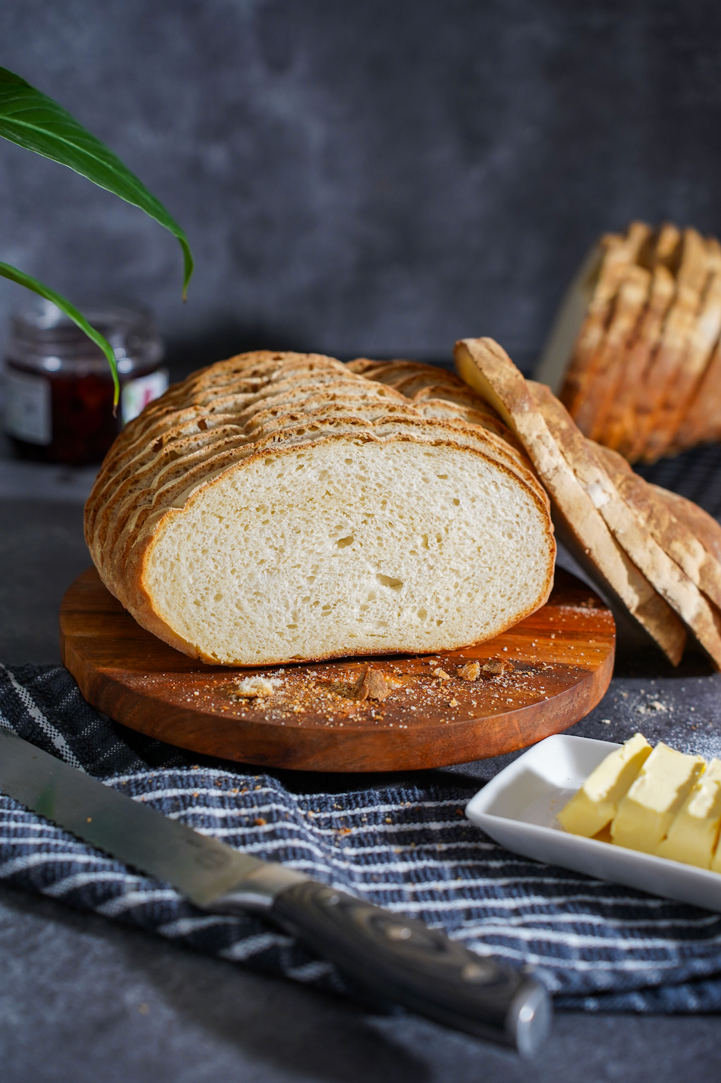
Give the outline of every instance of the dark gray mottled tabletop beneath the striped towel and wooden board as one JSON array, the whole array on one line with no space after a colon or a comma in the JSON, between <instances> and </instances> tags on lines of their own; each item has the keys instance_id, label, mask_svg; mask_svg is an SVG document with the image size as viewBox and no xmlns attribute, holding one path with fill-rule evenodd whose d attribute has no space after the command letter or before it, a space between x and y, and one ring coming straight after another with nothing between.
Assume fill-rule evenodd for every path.
<instances>
[{"instance_id":1,"label":"dark gray mottled tabletop beneath the striped towel and wooden board","mask_svg":"<svg viewBox=\"0 0 721 1083\"><path fill-rule=\"evenodd\" d=\"M88 566L90 473L0 461L0 661L57 662L57 608ZM625 637L617 676L574 731L635 729L721 754L721 681L672 674ZM454 769L483 780L506 760ZM0 888L0 1060L6 1083L584 1083L716 1081L716 1017L559 1014L532 1062L410 1015L369 1016L50 899Z\"/></svg>"}]
</instances>

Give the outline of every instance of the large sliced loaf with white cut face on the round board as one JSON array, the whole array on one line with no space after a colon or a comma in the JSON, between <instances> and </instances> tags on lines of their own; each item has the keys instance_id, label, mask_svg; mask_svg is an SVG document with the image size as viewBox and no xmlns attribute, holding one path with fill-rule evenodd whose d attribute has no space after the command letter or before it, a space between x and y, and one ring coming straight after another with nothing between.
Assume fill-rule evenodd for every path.
<instances>
[{"instance_id":1,"label":"large sliced loaf with white cut face on the round board","mask_svg":"<svg viewBox=\"0 0 721 1083\"><path fill-rule=\"evenodd\" d=\"M108 453L93 561L139 624L212 664L491 638L545 603L555 545L527 459L463 408L424 416L315 354L213 365Z\"/></svg>"}]
</instances>

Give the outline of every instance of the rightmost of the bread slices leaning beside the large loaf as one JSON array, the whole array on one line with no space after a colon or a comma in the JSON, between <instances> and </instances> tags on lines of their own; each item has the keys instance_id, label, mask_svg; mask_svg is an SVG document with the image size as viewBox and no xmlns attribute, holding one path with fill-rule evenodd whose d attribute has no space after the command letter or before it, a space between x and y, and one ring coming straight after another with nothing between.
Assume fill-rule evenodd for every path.
<instances>
[{"instance_id":1,"label":"rightmost of the bread slices leaning beside the large loaf","mask_svg":"<svg viewBox=\"0 0 721 1083\"><path fill-rule=\"evenodd\" d=\"M715 605L721 606L721 526L691 500L650 485L611 448L594 444L593 452L661 549Z\"/></svg>"}]
</instances>

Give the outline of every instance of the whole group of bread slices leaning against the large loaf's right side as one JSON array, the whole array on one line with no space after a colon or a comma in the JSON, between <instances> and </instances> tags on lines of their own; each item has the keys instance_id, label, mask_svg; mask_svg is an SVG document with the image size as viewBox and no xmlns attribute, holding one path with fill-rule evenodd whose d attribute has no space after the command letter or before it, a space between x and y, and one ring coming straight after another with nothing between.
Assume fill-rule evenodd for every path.
<instances>
[{"instance_id":1,"label":"whole group of bread slices leaning against the large loaf's right side","mask_svg":"<svg viewBox=\"0 0 721 1083\"><path fill-rule=\"evenodd\" d=\"M721 527L585 438L550 389L525 380L493 339L458 342L456 365L513 429L551 497L560 539L601 588L674 664L687 628L721 667Z\"/></svg>"}]
</instances>

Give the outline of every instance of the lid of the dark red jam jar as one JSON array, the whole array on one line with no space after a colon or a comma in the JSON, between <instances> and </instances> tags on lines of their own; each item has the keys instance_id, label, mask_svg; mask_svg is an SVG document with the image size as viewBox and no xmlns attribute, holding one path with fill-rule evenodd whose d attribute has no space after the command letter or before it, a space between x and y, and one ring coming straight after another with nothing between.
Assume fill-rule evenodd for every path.
<instances>
[{"instance_id":1,"label":"lid of the dark red jam jar","mask_svg":"<svg viewBox=\"0 0 721 1083\"><path fill-rule=\"evenodd\" d=\"M135 304L91 300L77 308L91 327L108 340L116 358L149 365L163 354L163 343L152 314ZM11 317L8 356L34 361L54 355L67 361L102 362L105 354L77 324L42 298L32 300Z\"/></svg>"}]
</instances>

